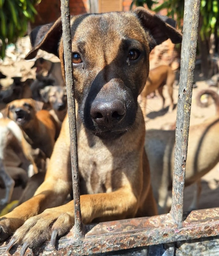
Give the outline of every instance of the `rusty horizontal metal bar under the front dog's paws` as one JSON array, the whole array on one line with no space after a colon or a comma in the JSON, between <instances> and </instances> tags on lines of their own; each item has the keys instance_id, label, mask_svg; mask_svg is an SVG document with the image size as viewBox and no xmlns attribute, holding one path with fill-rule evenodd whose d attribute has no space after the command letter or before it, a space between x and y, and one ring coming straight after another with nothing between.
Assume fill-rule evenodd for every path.
<instances>
[{"instance_id":1,"label":"rusty horizontal metal bar under the front dog's paws","mask_svg":"<svg viewBox=\"0 0 219 256\"><path fill-rule=\"evenodd\" d=\"M89 255L99 252L111 252L123 249L156 245L161 243L191 240L219 235L219 208L203 209L184 213L182 227L178 228L170 213L102 222L86 226L85 238L82 241L73 238L74 229L60 238L57 248L53 249L50 243L39 249L28 249L27 255ZM6 245L0 247L0 255L8 256L4 252ZM16 249L16 248L15 248ZM18 256L20 247L14 256Z\"/></svg>"}]
</instances>

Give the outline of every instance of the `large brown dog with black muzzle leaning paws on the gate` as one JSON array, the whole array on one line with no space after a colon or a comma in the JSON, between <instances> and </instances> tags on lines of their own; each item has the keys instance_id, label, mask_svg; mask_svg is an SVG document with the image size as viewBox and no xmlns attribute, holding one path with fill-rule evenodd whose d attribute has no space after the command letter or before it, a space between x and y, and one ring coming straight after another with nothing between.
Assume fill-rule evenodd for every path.
<instances>
[{"instance_id":1,"label":"large brown dog with black muzzle leaning paws on the gate","mask_svg":"<svg viewBox=\"0 0 219 256\"><path fill-rule=\"evenodd\" d=\"M181 42L181 34L164 19L144 8L71 18L85 224L157 213L144 150L145 122L137 98L148 76L150 50L169 37L174 43ZM64 73L61 19L35 29L31 37L33 49L26 58L34 58L43 48L59 55ZM28 246L40 245L51 234L55 245L57 235L74 225L73 202L62 205L71 189L66 116L44 182L33 198L0 220L0 239L23 224L7 249L24 243L23 255ZM55 206L59 207L51 208Z\"/></svg>"}]
</instances>

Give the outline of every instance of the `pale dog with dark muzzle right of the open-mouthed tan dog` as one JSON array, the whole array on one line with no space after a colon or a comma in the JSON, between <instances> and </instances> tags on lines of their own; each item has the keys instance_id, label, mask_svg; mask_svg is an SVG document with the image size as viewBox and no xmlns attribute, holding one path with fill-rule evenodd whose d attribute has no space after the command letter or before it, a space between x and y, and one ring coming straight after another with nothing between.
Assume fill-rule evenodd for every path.
<instances>
[{"instance_id":1,"label":"pale dog with dark muzzle right of the open-mouthed tan dog","mask_svg":"<svg viewBox=\"0 0 219 256\"><path fill-rule=\"evenodd\" d=\"M66 87L46 86L40 90L42 101L47 103L49 113L59 123L60 127L67 113Z\"/></svg>"}]
</instances>

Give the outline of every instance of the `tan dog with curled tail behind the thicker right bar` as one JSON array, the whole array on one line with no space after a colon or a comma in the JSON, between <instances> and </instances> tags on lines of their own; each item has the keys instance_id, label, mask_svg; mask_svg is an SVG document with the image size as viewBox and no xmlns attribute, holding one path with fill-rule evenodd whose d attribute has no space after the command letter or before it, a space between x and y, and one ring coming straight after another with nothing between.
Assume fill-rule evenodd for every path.
<instances>
[{"instance_id":1,"label":"tan dog with curled tail behind the thicker right bar","mask_svg":"<svg viewBox=\"0 0 219 256\"><path fill-rule=\"evenodd\" d=\"M201 90L197 94L198 105L201 105L200 97L203 94L209 94L214 99L216 114L204 123L191 126L189 129L185 186L198 182L198 189L194 191L194 200L190 209L198 207L201 177L219 161L219 143L215 139L219 133L219 96L213 90ZM147 130L145 150L149 159L152 187L158 202L159 214L167 213L171 206L168 190L172 189L174 145L175 130Z\"/></svg>"}]
</instances>

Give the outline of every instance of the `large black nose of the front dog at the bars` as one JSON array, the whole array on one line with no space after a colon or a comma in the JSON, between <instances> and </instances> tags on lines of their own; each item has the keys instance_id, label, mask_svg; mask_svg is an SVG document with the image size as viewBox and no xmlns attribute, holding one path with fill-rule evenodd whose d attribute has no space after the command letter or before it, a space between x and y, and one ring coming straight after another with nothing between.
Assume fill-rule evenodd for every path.
<instances>
[{"instance_id":1,"label":"large black nose of the front dog at the bars","mask_svg":"<svg viewBox=\"0 0 219 256\"><path fill-rule=\"evenodd\" d=\"M96 100L91 105L90 114L98 125L106 127L119 123L126 114L125 104L120 100Z\"/></svg>"}]
</instances>

